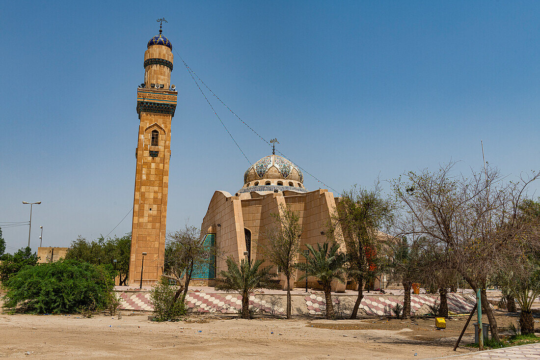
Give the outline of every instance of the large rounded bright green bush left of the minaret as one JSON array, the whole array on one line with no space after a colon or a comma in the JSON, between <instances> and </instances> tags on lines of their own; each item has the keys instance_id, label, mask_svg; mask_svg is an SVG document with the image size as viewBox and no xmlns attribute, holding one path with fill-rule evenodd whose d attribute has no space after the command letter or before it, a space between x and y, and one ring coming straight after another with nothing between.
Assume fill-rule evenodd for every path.
<instances>
[{"instance_id":1,"label":"large rounded bright green bush left of the minaret","mask_svg":"<svg viewBox=\"0 0 540 360\"><path fill-rule=\"evenodd\" d=\"M59 314L82 308L105 309L113 289L109 272L101 266L64 260L26 266L5 284L4 308Z\"/></svg>"}]
</instances>

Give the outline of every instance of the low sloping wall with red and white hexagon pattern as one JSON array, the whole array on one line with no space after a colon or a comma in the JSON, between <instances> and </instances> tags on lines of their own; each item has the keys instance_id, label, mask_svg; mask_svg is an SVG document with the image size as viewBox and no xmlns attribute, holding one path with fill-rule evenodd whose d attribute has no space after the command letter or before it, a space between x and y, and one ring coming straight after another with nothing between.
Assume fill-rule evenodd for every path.
<instances>
[{"instance_id":1,"label":"low sloping wall with red and white hexagon pattern","mask_svg":"<svg viewBox=\"0 0 540 360\"><path fill-rule=\"evenodd\" d=\"M119 292L120 309L153 311L148 291ZM350 315L356 301L353 294L333 294L332 299L336 316ZM430 305L438 301L437 295L411 295L411 314L422 315L430 312ZM216 292L190 292L186 304L192 312L235 314L242 307L242 297L237 294ZM257 308L261 314L285 315L287 296L284 294L253 294L249 304ZM359 308L359 316L394 315L392 309L396 304L403 305L403 296L373 295L363 297ZM448 294L448 309L457 314L468 313L473 309L474 300L461 294ZM293 315L322 315L326 309L322 292L312 291L309 294L292 295Z\"/></svg>"}]
</instances>

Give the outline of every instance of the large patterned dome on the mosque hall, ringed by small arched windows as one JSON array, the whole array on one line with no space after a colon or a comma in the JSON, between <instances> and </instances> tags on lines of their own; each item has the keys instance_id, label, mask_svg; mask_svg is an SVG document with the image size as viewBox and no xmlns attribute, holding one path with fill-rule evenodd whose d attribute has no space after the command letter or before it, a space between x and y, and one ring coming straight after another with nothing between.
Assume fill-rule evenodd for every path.
<instances>
[{"instance_id":1,"label":"large patterned dome on the mosque hall, ringed by small arched windows","mask_svg":"<svg viewBox=\"0 0 540 360\"><path fill-rule=\"evenodd\" d=\"M307 192L303 174L291 161L279 155L268 155L244 173L244 187L238 192L295 191Z\"/></svg>"}]
</instances>

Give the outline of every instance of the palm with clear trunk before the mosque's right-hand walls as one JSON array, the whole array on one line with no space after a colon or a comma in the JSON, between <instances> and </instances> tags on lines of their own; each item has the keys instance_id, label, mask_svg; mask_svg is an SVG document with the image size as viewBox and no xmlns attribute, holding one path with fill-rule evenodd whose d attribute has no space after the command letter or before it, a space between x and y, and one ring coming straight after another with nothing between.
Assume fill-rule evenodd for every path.
<instances>
[{"instance_id":1,"label":"palm with clear trunk before the mosque's right-hand walls","mask_svg":"<svg viewBox=\"0 0 540 360\"><path fill-rule=\"evenodd\" d=\"M322 289L325 291L326 300L326 318L334 318L334 304L332 303L332 282L338 280L342 283L346 282L345 270L345 254L339 252L339 245L333 243L317 244L315 250L312 245L306 244L309 249L309 255L306 257L305 263L296 264L296 268L303 272L300 279L307 279L309 276L314 276L322 282Z\"/></svg>"}]
</instances>

